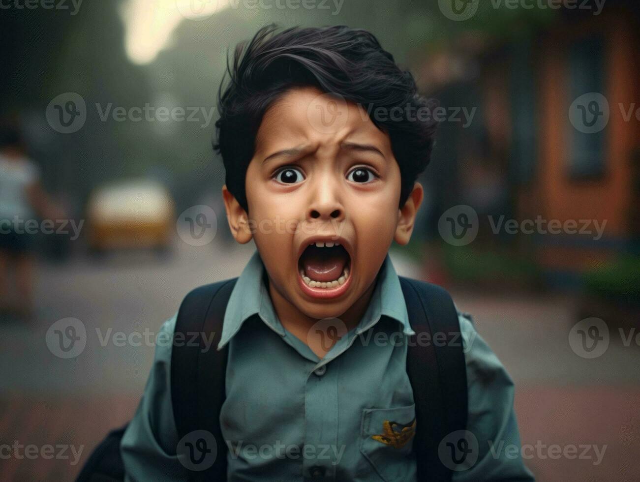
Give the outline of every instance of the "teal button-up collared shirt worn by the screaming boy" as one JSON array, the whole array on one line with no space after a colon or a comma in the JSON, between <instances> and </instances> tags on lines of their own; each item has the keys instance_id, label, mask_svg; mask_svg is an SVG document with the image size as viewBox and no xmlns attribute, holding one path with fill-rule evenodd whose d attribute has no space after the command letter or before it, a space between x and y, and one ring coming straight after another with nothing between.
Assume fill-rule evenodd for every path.
<instances>
[{"instance_id":1,"label":"teal button-up collared shirt worn by the screaming boy","mask_svg":"<svg viewBox=\"0 0 640 482\"><path fill-rule=\"evenodd\" d=\"M412 438L397 447L374 438L383 435L385 421L415 419L403 342L413 330L390 258L358 326L322 359L282 326L263 275L256 252L232 291L218 346L228 344L227 396L220 413L228 479L416 480ZM520 447L513 382L470 318L459 314L459 319L468 431L477 438L477 460L454 472L453 479L533 480L520 456L495 448ZM172 335L174 329L175 316L161 332ZM186 480L185 459L176 453L167 345L156 346L143 398L122 440L129 481Z\"/></svg>"}]
</instances>

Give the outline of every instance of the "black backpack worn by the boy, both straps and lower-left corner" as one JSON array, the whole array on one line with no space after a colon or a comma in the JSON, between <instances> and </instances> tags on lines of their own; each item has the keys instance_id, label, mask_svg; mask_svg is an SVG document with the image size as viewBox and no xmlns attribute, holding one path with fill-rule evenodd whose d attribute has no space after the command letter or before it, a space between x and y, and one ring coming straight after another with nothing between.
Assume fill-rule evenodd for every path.
<instances>
[{"instance_id":1,"label":"black backpack worn by the boy, both straps and lower-left corner","mask_svg":"<svg viewBox=\"0 0 640 482\"><path fill-rule=\"evenodd\" d=\"M439 286L399 277L411 326L406 369L415 401L416 430L413 451L419 481L451 481L452 469L438 457L438 446L449 433L467 428L467 373L458 312L449 293ZM204 285L180 304L175 333L212 333L218 346L227 302L237 278ZM444 333L446 342L416 343L415 337ZM203 343L201 337L201 343ZM219 414L225 401L227 347L218 351L193 344L172 347L171 396L180 438L194 430L214 435L218 456L207 470L189 471L189 481L227 479L227 444ZM213 383L212 383L213 382ZM93 451L77 482L124 480L120 440L125 428L109 433ZM449 464L451 465L451 464Z\"/></svg>"}]
</instances>

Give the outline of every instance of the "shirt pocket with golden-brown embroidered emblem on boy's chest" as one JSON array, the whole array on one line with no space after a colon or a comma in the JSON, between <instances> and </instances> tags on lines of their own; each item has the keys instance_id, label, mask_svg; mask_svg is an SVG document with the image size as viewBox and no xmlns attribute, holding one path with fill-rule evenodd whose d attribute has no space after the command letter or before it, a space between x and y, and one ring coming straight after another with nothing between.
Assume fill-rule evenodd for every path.
<instances>
[{"instance_id":1,"label":"shirt pocket with golden-brown embroidered emblem on boy's chest","mask_svg":"<svg viewBox=\"0 0 640 482\"><path fill-rule=\"evenodd\" d=\"M386 482L415 480L415 405L365 408L360 452Z\"/></svg>"}]
</instances>

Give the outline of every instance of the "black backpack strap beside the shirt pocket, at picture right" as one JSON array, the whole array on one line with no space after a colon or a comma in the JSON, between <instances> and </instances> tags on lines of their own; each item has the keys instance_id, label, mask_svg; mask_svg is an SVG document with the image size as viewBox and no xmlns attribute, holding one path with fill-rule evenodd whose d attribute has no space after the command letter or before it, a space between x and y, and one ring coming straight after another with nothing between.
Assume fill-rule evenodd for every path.
<instances>
[{"instance_id":1,"label":"black backpack strap beside the shirt pocket, at picture right","mask_svg":"<svg viewBox=\"0 0 640 482\"><path fill-rule=\"evenodd\" d=\"M415 400L418 480L451 481L452 470L438 457L438 446L449 433L467 428L467 371L458 312L439 286L405 277L400 285L416 333L410 337L406 365Z\"/></svg>"}]
</instances>

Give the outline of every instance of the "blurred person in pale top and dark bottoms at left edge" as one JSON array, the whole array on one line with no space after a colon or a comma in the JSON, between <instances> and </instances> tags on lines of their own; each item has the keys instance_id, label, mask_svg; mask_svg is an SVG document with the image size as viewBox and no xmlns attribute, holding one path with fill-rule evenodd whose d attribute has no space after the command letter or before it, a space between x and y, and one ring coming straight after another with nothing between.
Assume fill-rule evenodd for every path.
<instances>
[{"instance_id":1,"label":"blurred person in pale top and dark bottoms at left edge","mask_svg":"<svg viewBox=\"0 0 640 482\"><path fill-rule=\"evenodd\" d=\"M17 129L0 130L0 314L29 319L33 309L35 234L26 223L60 220L63 211L45 193L38 168L26 155ZM33 225L33 221L30 223ZM39 225L39 224L38 224ZM13 273L12 273L13 272ZM15 296L10 292L12 274Z\"/></svg>"}]
</instances>

